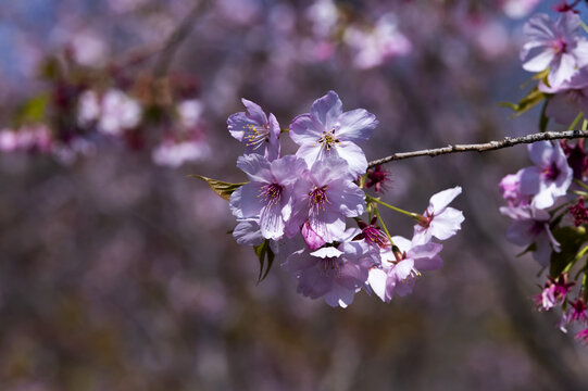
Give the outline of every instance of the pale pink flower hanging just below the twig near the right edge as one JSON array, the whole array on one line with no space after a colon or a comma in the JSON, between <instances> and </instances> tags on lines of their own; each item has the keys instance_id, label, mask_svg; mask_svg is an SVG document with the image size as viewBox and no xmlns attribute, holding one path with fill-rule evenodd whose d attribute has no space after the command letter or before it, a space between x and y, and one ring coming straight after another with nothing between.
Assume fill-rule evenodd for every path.
<instances>
[{"instance_id":1,"label":"pale pink flower hanging just below the twig near the right edge","mask_svg":"<svg viewBox=\"0 0 588 391\"><path fill-rule=\"evenodd\" d=\"M534 206L549 207L559 197L565 195L574 172L559 143L535 142L528 147L528 152L535 166L520 172L521 192L533 197Z\"/></svg>"}]
</instances>

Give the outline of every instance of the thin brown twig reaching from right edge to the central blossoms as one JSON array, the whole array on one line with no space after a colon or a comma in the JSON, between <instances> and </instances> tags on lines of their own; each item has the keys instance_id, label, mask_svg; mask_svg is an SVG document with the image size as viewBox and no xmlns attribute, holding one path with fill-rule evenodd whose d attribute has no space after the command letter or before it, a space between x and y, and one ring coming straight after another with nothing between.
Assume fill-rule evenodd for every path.
<instances>
[{"instance_id":1,"label":"thin brown twig reaching from right edge to the central blossoms","mask_svg":"<svg viewBox=\"0 0 588 391\"><path fill-rule=\"evenodd\" d=\"M442 148L435 148L428 150L413 151L413 152L399 152L389 156L378 159L368 163L367 167L375 167L378 164L389 163L391 161L410 159L416 156L437 156L440 154L455 153L455 152L484 152L492 151L502 148L513 147L520 143L533 143L543 140L558 140L558 139L576 139L588 138L588 130L567 130L567 131L546 131L539 134L527 135L523 137L504 137L500 141L490 141L485 143L475 144L450 144Z\"/></svg>"}]
</instances>

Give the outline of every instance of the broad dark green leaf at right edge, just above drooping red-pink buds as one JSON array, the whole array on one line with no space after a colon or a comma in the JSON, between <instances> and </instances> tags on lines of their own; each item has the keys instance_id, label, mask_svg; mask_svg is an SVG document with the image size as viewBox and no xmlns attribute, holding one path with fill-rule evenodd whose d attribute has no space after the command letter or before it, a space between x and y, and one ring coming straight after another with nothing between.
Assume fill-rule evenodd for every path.
<instances>
[{"instance_id":1,"label":"broad dark green leaf at right edge, just above drooping red-pink buds","mask_svg":"<svg viewBox=\"0 0 588 391\"><path fill-rule=\"evenodd\" d=\"M565 268L577 261L581 244L588 241L588 234L584 227L560 227L553 230L553 237L560 243L561 251L551 252L549 274L558 278Z\"/></svg>"}]
</instances>

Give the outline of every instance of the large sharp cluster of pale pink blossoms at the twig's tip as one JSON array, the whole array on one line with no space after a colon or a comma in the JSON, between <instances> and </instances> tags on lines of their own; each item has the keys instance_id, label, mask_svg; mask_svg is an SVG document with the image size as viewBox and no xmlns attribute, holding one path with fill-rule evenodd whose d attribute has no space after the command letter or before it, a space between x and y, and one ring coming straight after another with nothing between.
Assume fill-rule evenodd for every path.
<instances>
[{"instance_id":1,"label":"large sharp cluster of pale pink blossoms at the twig's tip","mask_svg":"<svg viewBox=\"0 0 588 391\"><path fill-rule=\"evenodd\" d=\"M389 302L395 293L410 293L423 272L441 267L442 244L433 238L449 239L461 228L463 214L449 203L462 190L433 195L423 214L367 194L368 187L381 191L387 178L381 167L367 171L359 147L378 124L374 114L343 112L329 91L283 130L273 114L249 100L242 103L247 111L227 121L230 135L245 144L237 166L249 179L234 185L229 198L238 243L279 253L298 292L331 306L348 306L361 290ZM280 154L284 134L298 144L295 154ZM413 237L391 237L378 206L414 218ZM364 214L368 223L361 219Z\"/></svg>"}]
</instances>

